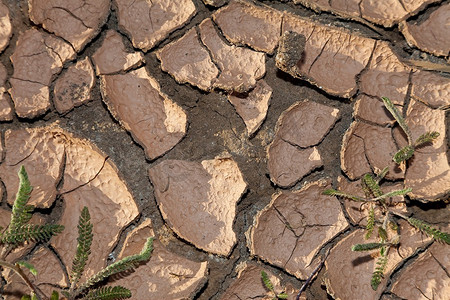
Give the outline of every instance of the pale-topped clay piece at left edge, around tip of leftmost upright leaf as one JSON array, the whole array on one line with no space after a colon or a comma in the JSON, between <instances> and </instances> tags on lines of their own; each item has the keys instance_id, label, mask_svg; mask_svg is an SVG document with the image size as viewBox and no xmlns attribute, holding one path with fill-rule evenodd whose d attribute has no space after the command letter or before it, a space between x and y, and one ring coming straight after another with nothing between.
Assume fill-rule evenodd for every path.
<instances>
[{"instance_id":1,"label":"pale-topped clay piece at left edge, around tip of leftmost upright leaf","mask_svg":"<svg viewBox=\"0 0 450 300\"><path fill-rule=\"evenodd\" d=\"M21 165L25 166L33 186L28 204L39 208L53 204L62 176L65 148L64 141L57 137L58 132L50 127L6 131L5 161L0 165L0 174L9 204L15 200L19 187L17 172Z\"/></svg>"}]
</instances>

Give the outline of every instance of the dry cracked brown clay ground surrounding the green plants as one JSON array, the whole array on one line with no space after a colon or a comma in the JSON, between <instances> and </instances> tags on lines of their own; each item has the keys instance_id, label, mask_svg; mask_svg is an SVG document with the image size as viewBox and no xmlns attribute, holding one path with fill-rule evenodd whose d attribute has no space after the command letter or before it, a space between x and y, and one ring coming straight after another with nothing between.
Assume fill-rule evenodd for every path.
<instances>
[{"instance_id":1,"label":"dry cracked brown clay ground surrounding the green plants","mask_svg":"<svg viewBox=\"0 0 450 300\"><path fill-rule=\"evenodd\" d=\"M87 206L84 278L155 237L107 283L133 299L272 299L262 270L295 299L326 254L302 299L448 299L448 247L402 221L372 290L367 207L322 192L388 166L395 211L450 229L449 37L448 0L1 1L0 226L21 165L33 221L65 226L7 259L67 287ZM400 168L381 97L441 134ZM0 298L23 291L3 270Z\"/></svg>"}]
</instances>

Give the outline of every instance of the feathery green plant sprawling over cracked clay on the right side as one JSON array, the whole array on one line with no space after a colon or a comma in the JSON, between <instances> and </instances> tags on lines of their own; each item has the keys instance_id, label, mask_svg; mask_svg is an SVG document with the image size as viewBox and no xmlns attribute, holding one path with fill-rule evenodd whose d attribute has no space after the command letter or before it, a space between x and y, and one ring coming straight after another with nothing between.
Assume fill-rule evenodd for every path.
<instances>
[{"instance_id":1,"label":"feathery green plant sprawling over cracked clay on the right side","mask_svg":"<svg viewBox=\"0 0 450 300\"><path fill-rule=\"evenodd\" d=\"M382 99L384 105L398 122L408 139L408 145L401 148L397 153L395 153L392 160L397 164L406 164L406 161L414 155L414 151L418 147L433 142L433 140L435 140L439 136L439 133L436 131L426 132L413 142L411 131L409 130L408 125L406 124L405 119L402 117L401 113L388 98L383 97ZM373 176L372 174L365 174L361 178L361 187L365 197L351 195L346 192L334 189L327 189L323 192L325 195L343 197L368 206L365 239L369 239L372 236L374 229L377 228L378 241L353 245L352 250L378 251L378 258L371 278L371 286L373 290L376 290L378 288L384 276L388 262L389 250L392 247L398 246L400 243L398 229L399 226L397 224L398 219L406 220L410 225L417 228L421 232L426 233L428 236L438 242L443 242L448 245L450 244L449 233L442 232L439 229L423 222L422 220L408 217L404 214L394 211L392 209L393 206L395 204L398 204L399 202L388 200L395 196L406 195L411 192L412 189L406 188L384 193L381 190L380 182L388 173L388 167L385 167L383 170L376 173L376 176ZM377 218L376 216L378 215L381 215L381 217Z\"/></svg>"}]
</instances>

